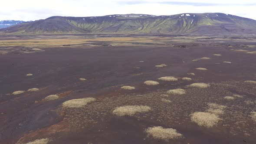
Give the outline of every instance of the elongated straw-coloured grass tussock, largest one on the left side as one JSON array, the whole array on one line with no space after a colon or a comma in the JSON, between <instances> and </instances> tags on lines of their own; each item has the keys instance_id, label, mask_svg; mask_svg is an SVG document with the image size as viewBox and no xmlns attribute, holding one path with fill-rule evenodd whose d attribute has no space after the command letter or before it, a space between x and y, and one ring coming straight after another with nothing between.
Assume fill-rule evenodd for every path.
<instances>
[{"instance_id":1,"label":"elongated straw-coloured grass tussock, largest one on the left side","mask_svg":"<svg viewBox=\"0 0 256 144\"><path fill-rule=\"evenodd\" d=\"M87 105L89 102L96 101L96 98L79 98L65 101L62 103L63 107L66 108L80 108Z\"/></svg>"}]
</instances>

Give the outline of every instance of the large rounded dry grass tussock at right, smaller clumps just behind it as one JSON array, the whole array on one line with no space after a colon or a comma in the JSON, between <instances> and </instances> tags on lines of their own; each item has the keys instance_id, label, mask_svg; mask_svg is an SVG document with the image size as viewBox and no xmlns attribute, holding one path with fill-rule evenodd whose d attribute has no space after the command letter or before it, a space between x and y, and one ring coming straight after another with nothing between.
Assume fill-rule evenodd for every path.
<instances>
[{"instance_id":1,"label":"large rounded dry grass tussock at right, smaller clumps just behind it","mask_svg":"<svg viewBox=\"0 0 256 144\"><path fill-rule=\"evenodd\" d=\"M211 128L220 121L220 118L210 112L194 112L191 115L191 120L199 126Z\"/></svg>"}]
</instances>

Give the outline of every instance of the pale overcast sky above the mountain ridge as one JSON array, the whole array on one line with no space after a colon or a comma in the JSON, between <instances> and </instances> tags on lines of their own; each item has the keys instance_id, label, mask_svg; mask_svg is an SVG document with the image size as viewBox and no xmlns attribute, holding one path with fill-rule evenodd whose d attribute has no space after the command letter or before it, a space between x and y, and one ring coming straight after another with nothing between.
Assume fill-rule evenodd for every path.
<instances>
[{"instance_id":1,"label":"pale overcast sky above the mountain ridge","mask_svg":"<svg viewBox=\"0 0 256 144\"><path fill-rule=\"evenodd\" d=\"M0 20L110 14L227 13L256 20L256 0L1 0Z\"/></svg>"}]
</instances>

